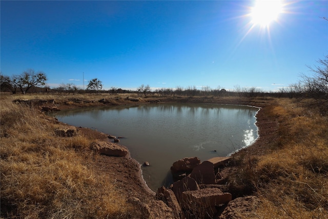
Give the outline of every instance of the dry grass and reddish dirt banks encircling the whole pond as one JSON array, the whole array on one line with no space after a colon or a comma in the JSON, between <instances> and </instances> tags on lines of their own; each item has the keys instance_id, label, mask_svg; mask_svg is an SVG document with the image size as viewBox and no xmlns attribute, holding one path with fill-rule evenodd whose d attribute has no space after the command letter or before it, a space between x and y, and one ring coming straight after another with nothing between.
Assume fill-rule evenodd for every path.
<instances>
[{"instance_id":1,"label":"dry grass and reddish dirt banks encircling the whole pond","mask_svg":"<svg viewBox=\"0 0 328 219\"><path fill-rule=\"evenodd\" d=\"M99 99L100 101L105 99L106 103L100 103ZM2 144L1 161L8 166L7 169L2 169L2 174L6 176L6 178L2 177L2 185L4 185L2 215L16 215L16 209L20 212L24 211L24 215L30 215L29 209L35 206L20 202L22 195L25 200L30 198L30 188L22 187L26 189L23 193L17 193L19 189L8 190L11 186L15 186L12 188L19 186L11 182L18 180L25 183L25 177L28 175L30 178L34 177L30 182L31 185L46 191L42 194L47 195L47 200L37 206L41 212L39 215L50 215L60 209L70 213L78 211L89 215L90 211L93 212L99 207L109 209L113 206L113 210L97 211L92 215L112 215L113 218L119 215L129 215L129 218L179 218L174 214L177 212L173 210L175 208L168 207L166 201L154 195L154 191L148 187L143 177L144 169L131 155L105 156L90 148L94 141L110 141L108 135L97 130L79 127L75 130L76 134L73 138L60 137L57 135L58 129L71 133L76 128L69 127L68 124L60 123L55 118L40 112L47 109L177 102L251 106L259 109L255 116L258 131L256 141L233 153L230 162L224 168L220 167L220 174L215 180L215 185L209 185L232 195L232 201L222 213L222 218L224 218L224 213L229 211L238 212L240 215L252 215L253 218L265 217L268 213L279 216L285 212L284 209L295 215L326 215L324 208L325 197L328 197L326 196L328 193L320 188L325 187L327 173L325 133L328 127L326 117L322 117L315 109L305 110L305 108L297 107L299 105L295 99L293 101L289 98L274 97L251 99L171 96L164 98L154 95L133 98L133 101L130 99L132 98L126 95L2 95L4 114L2 114L1 134L4 144ZM136 99L138 99L137 103ZM20 120L17 113L21 117ZM112 129L115 130L115 127ZM312 137L311 141L309 137ZM29 161L36 161L37 164L43 165L26 163L27 158ZM18 175L12 175L10 168L17 168L17 164L29 171L27 173L18 171ZM58 169L58 164L64 169ZM63 164L67 165L63 166ZM52 171L49 172L49 169ZM59 186L67 186L67 182L72 182L79 193L68 193L70 200L77 198L89 204L65 205L63 197L66 196L56 196L53 192L48 192L49 186L43 182L43 178L37 178L36 172L43 172L45 177L48 177L47 182L54 182L51 185L55 187L51 189L61 195L66 193ZM65 176L57 178L60 174L65 174ZM70 181L71 176L75 177L74 181ZM315 192L311 188L318 189L320 192ZM201 185L200 189L204 189L204 185ZM39 193L36 191L33 195L38 197ZM295 208L299 207L299 204L291 202L296 195L303 197L299 201L303 207L298 208L298 211ZM258 204L252 203L251 200L257 200ZM49 201L59 205L49 205ZM17 203L17 207L13 208L13 203ZM244 204L257 208L246 210L241 207ZM218 207L217 210L219 210ZM185 211L183 213L188 214Z\"/></svg>"}]
</instances>

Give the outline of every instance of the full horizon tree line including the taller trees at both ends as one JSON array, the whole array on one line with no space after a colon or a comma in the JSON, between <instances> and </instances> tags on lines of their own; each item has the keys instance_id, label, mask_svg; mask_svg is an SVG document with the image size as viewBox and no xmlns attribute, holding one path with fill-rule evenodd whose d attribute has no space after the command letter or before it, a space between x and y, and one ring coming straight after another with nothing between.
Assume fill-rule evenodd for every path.
<instances>
[{"instance_id":1,"label":"full horizon tree line including the taller trees at both ends","mask_svg":"<svg viewBox=\"0 0 328 219\"><path fill-rule=\"evenodd\" d=\"M87 89L81 89L73 83L60 84L56 88L46 86L47 76L43 71L28 69L19 75L7 76L0 74L0 90L2 92L11 92L16 94L17 91L26 94L28 92L44 93L136 93L140 96L156 94L159 96L239 96L239 97L289 97L308 99L306 104L309 107L325 106L328 109L328 55L324 59L319 59L320 66L308 66L312 75L301 74L298 83L290 85L288 88L280 88L274 92L264 92L259 88L243 88L238 85L234 89L226 90L221 87L212 89L209 86L197 89L196 86L187 88L176 87L160 88L154 91L149 85L142 84L135 91L123 90L121 88L111 87L109 90L103 90L103 83L98 78L89 81ZM312 101L309 101L311 99Z\"/></svg>"}]
</instances>

